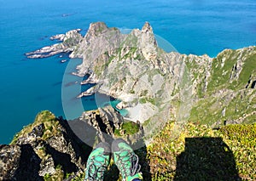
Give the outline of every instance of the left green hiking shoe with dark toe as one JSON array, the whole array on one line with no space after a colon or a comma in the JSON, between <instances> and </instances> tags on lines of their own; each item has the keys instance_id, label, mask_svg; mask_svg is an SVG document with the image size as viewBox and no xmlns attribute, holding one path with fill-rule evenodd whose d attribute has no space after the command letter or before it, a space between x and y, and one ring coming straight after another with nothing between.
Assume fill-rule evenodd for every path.
<instances>
[{"instance_id":1,"label":"left green hiking shoe with dark toe","mask_svg":"<svg viewBox=\"0 0 256 181\"><path fill-rule=\"evenodd\" d=\"M102 181L110 161L110 145L101 142L91 151L85 170L85 181Z\"/></svg>"}]
</instances>

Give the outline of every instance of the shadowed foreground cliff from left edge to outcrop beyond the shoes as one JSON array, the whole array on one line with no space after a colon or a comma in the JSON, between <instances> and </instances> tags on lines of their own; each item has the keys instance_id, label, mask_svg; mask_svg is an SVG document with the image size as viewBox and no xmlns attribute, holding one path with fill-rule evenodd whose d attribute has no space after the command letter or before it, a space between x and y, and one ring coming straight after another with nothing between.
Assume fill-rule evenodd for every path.
<instances>
[{"instance_id":1,"label":"shadowed foreground cliff from left edge to outcrop beyond the shoes","mask_svg":"<svg viewBox=\"0 0 256 181\"><path fill-rule=\"evenodd\" d=\"M125 136L124 124L111 106L84 112L69 122L42 111L11 144L0 144L0 180L82 179L93 145L111 144L117 130L131 146L137 144L139 139ZM142 133L140 125L133 127L138 127L135 135Z\"/></svg>"}]
</instances>

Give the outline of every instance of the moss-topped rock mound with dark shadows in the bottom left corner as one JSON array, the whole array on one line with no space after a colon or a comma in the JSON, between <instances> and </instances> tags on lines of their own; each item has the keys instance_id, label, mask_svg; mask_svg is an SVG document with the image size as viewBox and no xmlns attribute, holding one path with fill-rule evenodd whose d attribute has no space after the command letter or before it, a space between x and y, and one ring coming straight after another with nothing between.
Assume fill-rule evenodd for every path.
<instances>
[{"instance_id":1,"label":"moss-topped rock mound with dark shadows in the bottom left corner","mask_svg":"<svg viewBox=\"0 0 256 181\"><path fill-rule=\"evenodd\" d=\"M1 180L44 180L45 175L61 178L66 173L84 172L90 148L67 121L45 111L38 117L42 115L44 119L24 128L12 144L0 146ZM83 149L86 146L89 150Z\"/></svg>"}]
</instances>

